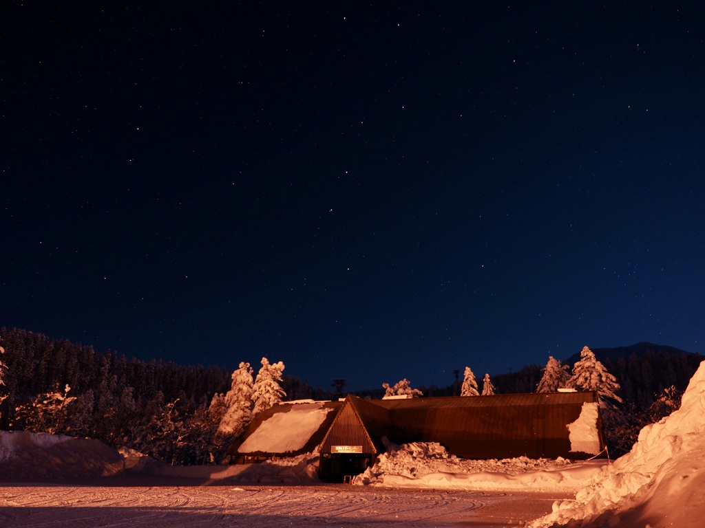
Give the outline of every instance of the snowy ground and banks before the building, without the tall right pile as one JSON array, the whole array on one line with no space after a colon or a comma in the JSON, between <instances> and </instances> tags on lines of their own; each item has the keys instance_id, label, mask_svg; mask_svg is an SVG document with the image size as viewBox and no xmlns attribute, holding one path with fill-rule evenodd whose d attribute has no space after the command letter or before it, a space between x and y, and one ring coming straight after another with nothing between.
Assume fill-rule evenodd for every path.
<instances>
[{"instance_id":1,"label":"snowy ground and banks before the building, without the tall right pile","mask_svg":"<svg viewBox=\"0 0 705 528\"><path fill-rule=\"evenodd\" d=\"M76 457L81 447L83 456ZM94 441L0 432L0 527L516 527L548 513L575 487L575 479L563 477L548 479L550 486L527 483L583 466L567 460L460 460L438 444L409 444L391 446L374 472L351 486L321 484L314 453L276 463L199 467L123 455L124 468L116 465L119 453Z\"/></svg>"}]
</instances>

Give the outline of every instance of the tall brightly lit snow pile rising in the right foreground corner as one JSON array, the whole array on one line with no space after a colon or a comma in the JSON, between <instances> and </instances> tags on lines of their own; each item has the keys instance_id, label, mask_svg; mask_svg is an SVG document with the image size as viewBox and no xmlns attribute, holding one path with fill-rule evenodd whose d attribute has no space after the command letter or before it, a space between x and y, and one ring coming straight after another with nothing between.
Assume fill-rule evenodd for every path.
<instances>
[{"instance_id":1,"label":"tall brightly lit snow pile rising in the right foreground corner","mask_svg":"<svg viewBox=\"0 0 705 528\"><path fill-rule=\"evenodd\" d=\"M603 468L575 500L555 503L553 513L529 526L701 527L703 489L705 362L679 410L644 427L630 453Z\"/></svg>"}]
</instances>

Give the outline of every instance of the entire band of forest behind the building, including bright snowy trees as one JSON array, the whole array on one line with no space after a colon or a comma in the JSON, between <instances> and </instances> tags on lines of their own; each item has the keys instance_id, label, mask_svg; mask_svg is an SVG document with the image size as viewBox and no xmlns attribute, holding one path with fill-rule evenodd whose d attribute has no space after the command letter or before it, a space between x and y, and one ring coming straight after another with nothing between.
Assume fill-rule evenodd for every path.
<instances>
[{"instance_id":1,"label":"entire band of forest behind the building, including bright snowy trees","mask_svg":"<svg viewBox=\"0 0 705 528\"><path fill-rule=\"evenodd\" d=\"M266 358L262 358L257 385L247 363L231 372L213 366L145 362L22 329L3 328L0 338L0 352L4 349L0 429L89 436L170 463L220 463L252 413L278 399L333 398L330 390L282 375L281 362L270 364ZM584 353L583 360L593 367L599 363L603 372L598 378L613 391L614 397L606 398L609 408L603 409L613 455L628 451L643 425L677 408L682 391L704 359L659 349L602 362L589 354ZM579 390L591 389L589 376L569 366L548 358L545 367L527 365L491 380L485 375L482 394L552 391L571 383ZM395 386L386 384L379 391L357 395L475 396L478 385L466 367L462 386L456 380L444 387L411 389L402 379Z\"/></svg>"}]
</instances>

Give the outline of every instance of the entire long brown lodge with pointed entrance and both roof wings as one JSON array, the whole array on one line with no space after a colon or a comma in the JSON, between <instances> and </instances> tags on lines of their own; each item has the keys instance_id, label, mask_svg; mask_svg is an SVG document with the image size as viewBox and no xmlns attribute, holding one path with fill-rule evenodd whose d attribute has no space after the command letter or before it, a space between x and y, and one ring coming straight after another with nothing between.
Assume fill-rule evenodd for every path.
<instances>
[{"instance_id":1,"label":"entire long brown lodge with pointed entrance and both roof wings","mask_svg":"<svg viewBox=\"0 0 705 528\"><path fill-rule=\"evenodd\" d=\"M276 406L258 415L230 454L293 456L319 447L321 479L374 463L386 445L437 442L461 458L570 458L605 447L593 391L364 400Z\"/></svg>"}]
</instances>

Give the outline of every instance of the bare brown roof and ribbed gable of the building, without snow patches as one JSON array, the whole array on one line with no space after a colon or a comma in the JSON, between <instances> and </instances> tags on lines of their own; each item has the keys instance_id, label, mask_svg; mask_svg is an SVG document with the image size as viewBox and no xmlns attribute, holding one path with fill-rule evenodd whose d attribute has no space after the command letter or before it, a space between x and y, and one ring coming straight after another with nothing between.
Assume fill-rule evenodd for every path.
<instances>
[{"instance_id":1,"label":"bare brown roof and ribbed gable of the building, without snow patches","mask_svg":"<svg viewBox=\"0 0 705 528\"><path fill-rule=\"evenodd\" d=\"M383 438L395 444L413 441L439 442L449 453L463 458L588 458L570 451L566 427L580 416L584 403L598 403L594 392L551 394L501 394L497 396L363 400L348 395L345 402L327 402L331 408L321 428L297 453L331 453L333 446L360 446L362 453L384 452ZM290 412L277 406L257 415L247 427L247 438L274 413ZM337 412L336 412L337 411ZM602 440L598 417L596 434ZM238 441L231 455L278 455L240 453Z\"/></svg>"}]
</instances>

